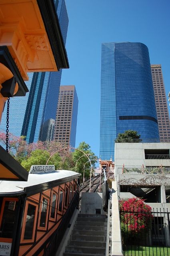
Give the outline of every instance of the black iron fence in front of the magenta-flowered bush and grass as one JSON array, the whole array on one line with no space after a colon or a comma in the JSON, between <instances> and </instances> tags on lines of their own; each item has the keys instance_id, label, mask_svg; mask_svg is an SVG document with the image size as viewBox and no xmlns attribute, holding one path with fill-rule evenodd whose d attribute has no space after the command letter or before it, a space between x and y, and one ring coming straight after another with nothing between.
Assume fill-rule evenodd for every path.
<instances>
[{"instance_id":1,"label":"black iron fence in front of the magenta-flowered bush and grass","mask_svg":"<svg viewBox=\"0 0 170 256\"><path fill-rule=\"evenodd\" d=\"M170 256L170 212L120 211L124 256Z\"/></svg>"}]
</instances>

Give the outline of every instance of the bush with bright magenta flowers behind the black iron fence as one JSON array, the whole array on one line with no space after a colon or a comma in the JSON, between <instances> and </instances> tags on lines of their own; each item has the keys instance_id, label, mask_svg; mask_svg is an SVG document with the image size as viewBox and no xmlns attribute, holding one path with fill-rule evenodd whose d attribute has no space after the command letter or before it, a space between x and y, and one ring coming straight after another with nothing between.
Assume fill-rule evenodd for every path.
<instances>
[{"instance_id":1,"label":"bush with bright magenta flowers behind the black iron fence","mask_svg":"<svg viewBox=\"0 0 170 256\"><path fill-rule=\"evenodd\" d=\"M152 208L140 198L120 200L119 206L122 242L133 243L134 239L140 239L139 234L148 232L153 218Z\"/></svg>"}]
</instances>

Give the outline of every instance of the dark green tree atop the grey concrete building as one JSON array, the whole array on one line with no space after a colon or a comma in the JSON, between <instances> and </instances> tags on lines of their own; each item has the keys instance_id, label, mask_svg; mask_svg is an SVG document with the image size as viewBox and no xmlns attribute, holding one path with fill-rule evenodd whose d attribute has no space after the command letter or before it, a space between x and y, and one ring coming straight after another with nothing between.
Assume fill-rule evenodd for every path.
<instances>
[{"instance_id":1,"label":"dark green tree atop the grey concrete building","mask_svg":"<svg viewBox=\"0 0 170 256\"><path fill-rule=\"evenodd\" d=\"M119 133L118 137L115 140L115 142L140 142L140 141L142 141L140 139L140 135L138 135L138 132L133 130L127 130L124 133Z\"/></svg>"}]
</instances>

